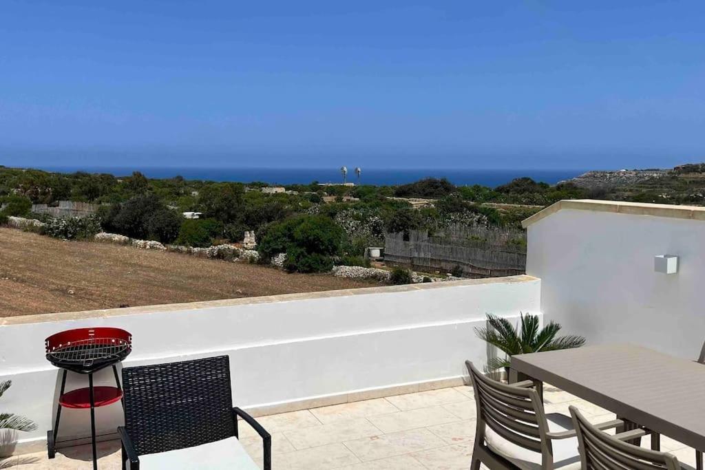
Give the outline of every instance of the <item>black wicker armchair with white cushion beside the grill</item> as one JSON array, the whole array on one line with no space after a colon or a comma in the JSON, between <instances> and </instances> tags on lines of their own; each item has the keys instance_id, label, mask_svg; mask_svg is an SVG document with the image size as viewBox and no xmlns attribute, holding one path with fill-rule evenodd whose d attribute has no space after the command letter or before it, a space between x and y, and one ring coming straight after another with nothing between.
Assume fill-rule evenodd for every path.
<instances>
[{"instance_id":1,"label":"black wicker armchair with white cushion beside the grill","mask_svg":"<svg viewBox=\"0 0 705 470\"><path fill-rule=\"evenodd\" d=\"M123 467L257 469L238 440L240 416L262 436L264 469L271 470L271 436L233 408L227 356L128 367L123 390Z\"/></svg>"}]
</instances>

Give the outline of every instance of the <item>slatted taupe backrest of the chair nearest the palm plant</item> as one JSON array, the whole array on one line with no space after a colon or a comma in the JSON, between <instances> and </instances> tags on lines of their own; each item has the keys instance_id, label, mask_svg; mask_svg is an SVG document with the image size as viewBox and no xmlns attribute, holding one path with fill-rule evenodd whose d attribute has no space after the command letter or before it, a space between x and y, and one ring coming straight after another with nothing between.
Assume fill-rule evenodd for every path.
<instances>
[{"instance_id":1,"label":"slatted taupe backrest of the chair nearest the palm plant","mask_svg":"<svg viewBox=\"0 0 705 470\"><path fill-rule=\"evenodd\" d=\"M494 381L465 361L477 404L477 435L482 442L485 426L510 443L542 454L544 469L553 468L551 441L546 438L548 424L539 393Z\"/></svg>"}]
</instances>

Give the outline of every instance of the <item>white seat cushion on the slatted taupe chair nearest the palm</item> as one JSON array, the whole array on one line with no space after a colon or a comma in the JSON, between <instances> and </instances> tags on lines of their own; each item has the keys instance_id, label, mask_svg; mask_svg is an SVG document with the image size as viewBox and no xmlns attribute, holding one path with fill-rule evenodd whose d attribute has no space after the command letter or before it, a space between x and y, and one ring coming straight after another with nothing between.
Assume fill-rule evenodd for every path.
<instances>
[{"instance_id":1,"label":"white seat cushion on the slatted taupe chair nearest the palm","mask_svg":"<svg viewBox=\"0 0 705 470\"><path fill-rule=\"evenodd\" d=\"M560 432L572 430L570 417L559 413L546 414L548 431ZM541 470L541 452L525 449L520 445L510 443L494 431L485 426L485 442L487 447L497 452L505 459L518 466L520 469ZM580 455L577 452L577 438L553 439L553 464L556 469L580 469Z\"/></svg>"}]
</instances>

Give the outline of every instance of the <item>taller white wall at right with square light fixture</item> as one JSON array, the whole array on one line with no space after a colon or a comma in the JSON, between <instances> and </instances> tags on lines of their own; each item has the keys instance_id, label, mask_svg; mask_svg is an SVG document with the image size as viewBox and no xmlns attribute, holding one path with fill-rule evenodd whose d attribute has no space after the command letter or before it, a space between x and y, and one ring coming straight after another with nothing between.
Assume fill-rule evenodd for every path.
<instances>
[{"instance_id":1,"label":"taller white wall at right with square light fixture","mask_svg":"<svg viewBox=\"0 0 705 470\"><path fill-rule=\"evenodd\" d=\"M687 359L705 341L705 207L562 201L527 219L541 311L592 344L633 342ZM654 257L678 256L678 272Z\"/></svg>"}]
</instances>

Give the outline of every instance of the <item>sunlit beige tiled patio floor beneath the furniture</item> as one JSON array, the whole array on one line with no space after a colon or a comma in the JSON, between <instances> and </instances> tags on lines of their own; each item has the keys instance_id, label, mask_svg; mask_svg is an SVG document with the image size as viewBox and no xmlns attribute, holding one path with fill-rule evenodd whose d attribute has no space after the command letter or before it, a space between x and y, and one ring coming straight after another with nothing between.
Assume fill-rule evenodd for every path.
<instances>
[{"instance_id":1,"label":"sunlit beige tiled patio floor beneath the furniture","mask_svg":"<svg viewBox=\"0 0 705 470\"><path fill-rule=\"evenodd\" d=\"M546 412L568 414L579 407L594 422L614 416L605 409L551 386L544 389ZM257 420L272 435L274 469L467 469L475 432L472 388L441 388L362 402L262 416ZM262 441L240 425L240 439L260 465ZM643 440L649 445L648 438ZM694 450L665 436L661 448L680 462L694 465ZM120 468L117 441L100 443L100 469ZM90 469L89 445L24 454L0 462L0 469Z\"/></svg>"}]
</instances>

